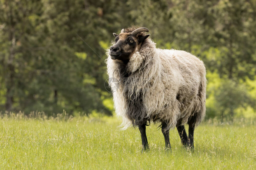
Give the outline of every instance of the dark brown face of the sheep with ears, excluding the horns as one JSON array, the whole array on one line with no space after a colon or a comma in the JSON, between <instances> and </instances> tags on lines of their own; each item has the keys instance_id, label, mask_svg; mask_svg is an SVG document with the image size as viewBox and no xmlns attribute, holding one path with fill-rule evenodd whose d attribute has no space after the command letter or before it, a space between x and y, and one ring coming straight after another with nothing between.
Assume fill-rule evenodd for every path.
<instances>
[{"instance_id":1,"label":"dark brown face of the sheep with ears, excluding the horns","mask_svg":"<svg viewBox=\"0 0 256 170\"><path fill-rule=\"evenodd\" d=\"M122 60L124 63L129 62L130 56L135 52L135 48L146 39L146 36L136 36L132 35L132 33L120 33L117 35L113 33L115 36L115 44L110 47L110 57L113 60Z\"/></svg>"}]
</instances>

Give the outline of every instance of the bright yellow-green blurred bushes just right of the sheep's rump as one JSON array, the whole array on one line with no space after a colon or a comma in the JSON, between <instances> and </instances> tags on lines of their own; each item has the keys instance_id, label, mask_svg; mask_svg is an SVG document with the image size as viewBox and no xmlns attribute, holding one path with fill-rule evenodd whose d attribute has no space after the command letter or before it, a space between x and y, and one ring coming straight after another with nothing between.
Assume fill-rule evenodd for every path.
<instances>
[{"instance_id":1,"label":"bright yellow-green blurred bushes just right of the sheep's rump","mask_svg":"<svg viewBox=\"0 0 256 170\"><path fill-rule=\"evenodd\" d=\"M207 72L207 118L233 120L234 117L255 117L255 81L238 83ZM250 116L249 116L250 115Z\"/></svg>"}]
</instances>

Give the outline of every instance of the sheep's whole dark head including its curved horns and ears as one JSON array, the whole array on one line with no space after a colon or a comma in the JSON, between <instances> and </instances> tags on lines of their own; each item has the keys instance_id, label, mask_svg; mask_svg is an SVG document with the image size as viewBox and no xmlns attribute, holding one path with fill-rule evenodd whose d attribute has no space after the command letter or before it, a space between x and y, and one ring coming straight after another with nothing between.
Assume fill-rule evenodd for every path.
<instances>
[{"instance_id":1,"label":"sheep's whole dark head including its curved horns and ears","mask_svg":"<svg viewBox=\"0 0 256 170\"><path fill-rule=\"evenodd\" d=\"M115 44L110 47L110 57L113 60L122 60L124 63L129 62L130 56L139 50L143 41L149 37L150 34L145 35L142 32L149 32L147 28L128 28L122 29L118 35L113 33L115 36Z\"/></svg>"}]
</instances>

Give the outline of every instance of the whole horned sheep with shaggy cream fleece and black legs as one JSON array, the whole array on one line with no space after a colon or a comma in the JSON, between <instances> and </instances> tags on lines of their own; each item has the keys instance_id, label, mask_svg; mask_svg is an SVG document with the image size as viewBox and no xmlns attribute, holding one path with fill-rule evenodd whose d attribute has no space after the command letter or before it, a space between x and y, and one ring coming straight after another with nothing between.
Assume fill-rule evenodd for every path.
<instances>
[{"instance_id":1,"label":"whole horned sheep with shaggy cream fleece and black legs","mask_svg":"<svg viewBox=\"0 0 256 170\"><path fill-rule=\"evenodd\" d=\"M141 132L143 150L149 150L146 126L160 122L166 150L169 130L176 126L183 146L194 148L194 129L205 117L206 70L196 56L175 49L158 49L147 28L122 29L107 50L107 74L115 112ZM184 124L188 124L188 136Z\"/></svg>"}]
</instances>

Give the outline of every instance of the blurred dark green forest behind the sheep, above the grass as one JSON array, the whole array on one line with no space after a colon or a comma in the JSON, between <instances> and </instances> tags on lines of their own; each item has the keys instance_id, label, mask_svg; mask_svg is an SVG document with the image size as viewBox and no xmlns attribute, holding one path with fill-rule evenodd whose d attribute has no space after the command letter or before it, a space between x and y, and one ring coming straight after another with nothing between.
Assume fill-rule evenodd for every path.
<instances>
[{"instance_id":1,"label":"blurred dark green forest behind the sheep, above the grass","mask_svg":"<svg viewBox=\"0 0 256 170\"><path fill-rule=\"evenodd\" d=\"M112 115L105 50L138 25L207 69L207 118L256 117L255 0L0 0L0 110Z\"/></svg>"}]
</instances>

